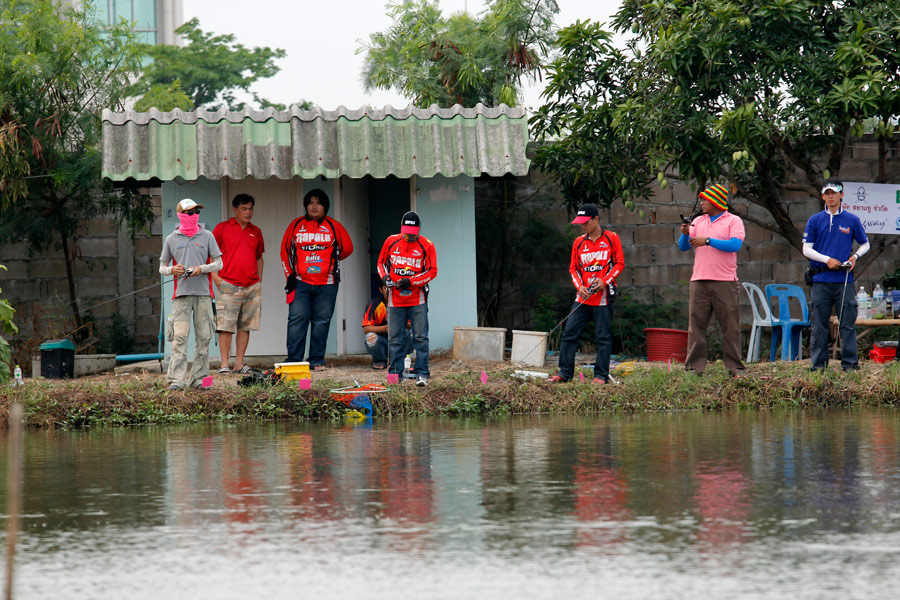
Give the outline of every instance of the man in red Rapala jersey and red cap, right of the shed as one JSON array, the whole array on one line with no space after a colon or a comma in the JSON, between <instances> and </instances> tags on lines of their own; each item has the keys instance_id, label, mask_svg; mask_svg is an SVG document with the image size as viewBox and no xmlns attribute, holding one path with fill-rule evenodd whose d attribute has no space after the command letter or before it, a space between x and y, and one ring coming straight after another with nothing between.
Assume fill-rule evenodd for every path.
<instances>
[{"instance_id":1,"label":"man in red Rapala jersey and red cap, right of the shed","mask_svg":"<svg viewBox=\"0 0 900 600\"><path fill-rule=\"evenodd\" d=\"M607 383L609 355L612 352L610 321L612 303L616 297L616 277L625 268L622 243L618 235L600 225L600 211L593 204L585 204L579 208L572 223L580 225L584 234L575 238L569 261L569 274L577 293L559 347L559 371L550 381L562 383L572 379L575 374L578 338L593 317L594 338L597 342L593 383Z\"/></svg>"}]
</instances>

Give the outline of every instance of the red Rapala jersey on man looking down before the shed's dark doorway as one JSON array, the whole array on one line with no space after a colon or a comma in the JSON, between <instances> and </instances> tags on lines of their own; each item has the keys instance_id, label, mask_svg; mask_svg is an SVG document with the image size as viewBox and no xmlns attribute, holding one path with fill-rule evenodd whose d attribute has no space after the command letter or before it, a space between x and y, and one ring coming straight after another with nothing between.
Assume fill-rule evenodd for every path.
<instances>
[{"instance_id":1,"label":"red Rapala jersey on man looking down before the shed's dark doorway","mask_svg":"<svg viewBox=\"0 0 900 600\"><path fill-rule=\"evenodd\" d=\"M434 244L422 235L412 242L403 239L401 233L390 236L378 255L378 275L384 279L388 273L394 283L404 277L412 283L405 290L391 288L388 298L391 306L425 304L428 300L428 282L437 276Z\"/></svg>"}]
</instances>

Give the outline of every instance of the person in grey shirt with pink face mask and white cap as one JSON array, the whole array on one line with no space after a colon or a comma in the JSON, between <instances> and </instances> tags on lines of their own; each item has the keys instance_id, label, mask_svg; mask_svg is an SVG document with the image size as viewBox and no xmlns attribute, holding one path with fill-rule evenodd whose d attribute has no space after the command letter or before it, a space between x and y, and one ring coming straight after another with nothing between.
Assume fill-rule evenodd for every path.
<instances>
[{"instance_id":1,"label":"person in grey shirt with pink face mask and white cap","mask_svg":"<svg viewBox=\"0 0 900 600\"><path fill-rule=\"evenodd\" d=\"M213 234L199 225L202 208L190 198L178 203L178 229L166 237L159 257L159 272L176 278L172 314L166 327L166 338L172 342L166 378L173 391L186 386L199 388L209 375L209 341L216 327L211 273L222 268L222 252ZM186 379L192 316L196 344L190 377Z\"/></svg>"}]
</instances>

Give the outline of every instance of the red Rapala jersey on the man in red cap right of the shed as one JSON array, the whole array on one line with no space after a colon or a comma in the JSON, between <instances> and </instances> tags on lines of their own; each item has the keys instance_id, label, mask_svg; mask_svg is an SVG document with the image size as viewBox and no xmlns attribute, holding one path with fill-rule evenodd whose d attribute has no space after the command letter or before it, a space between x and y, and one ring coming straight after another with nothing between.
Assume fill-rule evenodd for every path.
<instances>
[{"instance_id":1,"label":"red Rapala jersey on the man in red cap right of the shed","mask_svg":"<svg viewBox=\"0 0 900 600\"><path fill-rule=\"evenodd\" d=\"M575 302L583 302L589 306L605 306L606 286L615 281L624 268L622 242L612 231L604 229L596 240L591 240L587 234L575 238L575 242L572 243L572 258L569 261L572 284L577 290L581 286L591 287L599 280L599 288L594 294L587 300L576 294Z\"/></svg>"}]
</instances>

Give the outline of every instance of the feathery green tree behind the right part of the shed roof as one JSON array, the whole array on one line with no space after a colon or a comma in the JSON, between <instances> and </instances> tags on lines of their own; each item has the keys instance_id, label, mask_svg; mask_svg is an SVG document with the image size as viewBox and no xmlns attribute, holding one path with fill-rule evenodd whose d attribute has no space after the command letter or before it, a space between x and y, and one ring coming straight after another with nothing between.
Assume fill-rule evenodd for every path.
<instances>
[{"instance_id":1,"label":"feathery green tree behind the right part of the shed roof","mask_svg":"<svg viewBox=\"0 0 900 600\"><path fill-rule=\"evenodd\" d=\"M559 7L493 0L481 18L444 17L437 0L403 0L387 12L391 27L357 50L367 89L395 89L417 106L516 106L522 79L540 77Z\"/></svg>"}]
</instances>

